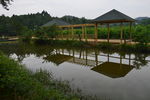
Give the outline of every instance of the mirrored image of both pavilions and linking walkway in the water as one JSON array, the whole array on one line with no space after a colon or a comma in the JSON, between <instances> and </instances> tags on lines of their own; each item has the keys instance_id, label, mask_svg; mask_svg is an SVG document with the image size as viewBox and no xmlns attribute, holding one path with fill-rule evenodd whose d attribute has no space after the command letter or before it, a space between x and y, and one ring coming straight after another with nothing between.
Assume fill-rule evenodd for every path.
<instances>
[{"instance_id":1,"label":"mirrored image of both pavilions and linking walkway in the water","mask_svg":"<svg viewBox=\"0 0 150 100\"><path fill-rule=\"evenodd\" d=\"M103 59L106 58L106 60ZM135 59L129 54L128 57L113 56L103 54L98 50L87 51L87 50L66 50L66 49L55 49L53 55L44 57L45 60L60 65L64 62L78 64L86 67L90 67L92 71L99 74L103 74L110 78L121 78L125 77L134 67L133 62ZM111 59L117 59L118 61L113 62ZM126 60L126 62L124 62Z\"/></svg>"}]
</instances>

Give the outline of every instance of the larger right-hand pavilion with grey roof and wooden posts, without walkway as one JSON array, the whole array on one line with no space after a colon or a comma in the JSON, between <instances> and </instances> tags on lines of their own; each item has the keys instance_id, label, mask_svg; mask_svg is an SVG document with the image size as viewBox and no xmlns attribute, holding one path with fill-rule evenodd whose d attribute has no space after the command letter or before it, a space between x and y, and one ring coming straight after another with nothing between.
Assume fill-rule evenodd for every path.
<instances>
[{"instance_id":1,"label":"larger right-hand pavilion with grey roof and wooden posts, without walkway","mask_svg":"<svg viewBox=\"0 0 150 100\"><path fill-rule=\"evenodd\" d=\"M110 24L112 23L120 23L120 43L122 44L123 40L123 23L130 23L130 41L132 40L132 32L131 27L132 23L135 22L135 20L115 9L105 13L104 15L97 17L93 20L93 23L95 24L95 41L97 42L98 37L98 24L106 24L108 28L108 42L110 40ZM125 39L124 39L125 40ZM124 42L125 43L125 42Z\"/></svg>"}]
</instances>

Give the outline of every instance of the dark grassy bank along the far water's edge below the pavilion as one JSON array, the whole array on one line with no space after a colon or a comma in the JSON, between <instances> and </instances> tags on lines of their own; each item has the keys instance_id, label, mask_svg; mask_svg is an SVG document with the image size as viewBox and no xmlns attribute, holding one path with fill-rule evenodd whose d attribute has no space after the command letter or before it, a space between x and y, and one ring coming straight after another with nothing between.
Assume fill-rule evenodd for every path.
<instances>
[{"instance_id":1,"label":"dark grassy bank along the far water's edge below the pavilion","mask_svg":"<svg viewBox=\"0 0 150 100\"><path fill-rule=\"evenodd\" d=\"M129 53L150 53L150 46L145 44L111 44L111 43L98 43L93 45L83 41L73 40L34 40L35 44L62 46L62 47L79 47L79 48L97 48L106 51L114 52L129 52Z\"/></svg>"}]
</instances>

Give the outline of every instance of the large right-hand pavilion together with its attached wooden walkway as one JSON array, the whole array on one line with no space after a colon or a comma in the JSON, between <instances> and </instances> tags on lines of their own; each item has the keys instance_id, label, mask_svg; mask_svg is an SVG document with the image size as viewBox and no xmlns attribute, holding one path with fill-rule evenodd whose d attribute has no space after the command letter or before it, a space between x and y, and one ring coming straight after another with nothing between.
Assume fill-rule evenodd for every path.
<instances>
[{"instance_id":1,"label":"large right-hand pavilion together with its attached wooden walkway","mask_svg":"<svg viewBox=\"0 0 150 100\"><path fill-rule=\"evenodd\" d=\"M115 9L107 12L106 14L97 17L96 19L92 20L91 24L78 24L78 25L60 25L60 28L68 28L71 30L71 36L74 36L74 28L75 27L81 27L82 28L82 39L86 40L88 39L87 37L87 30L86 27L95 27L95 34L94 34L94 41L97 43L98 40L98 25L107 25L108 28L108 37L107 37L107 42L109 43L110 41L110 24L113 23L120 23L120 43L123 43L123 23L129 23L130 25L130 42L132 42L132 23L135 22L135 20ZM124 37L124 43L126 43L126 39Z\"/></svg>"}]
</instances>

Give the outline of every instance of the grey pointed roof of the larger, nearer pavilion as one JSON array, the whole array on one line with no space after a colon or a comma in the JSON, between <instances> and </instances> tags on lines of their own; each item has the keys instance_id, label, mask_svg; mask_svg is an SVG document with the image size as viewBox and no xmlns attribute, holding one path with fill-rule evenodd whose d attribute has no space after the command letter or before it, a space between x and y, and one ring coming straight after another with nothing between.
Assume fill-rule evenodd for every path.
<instances>
[{"instance_id":1,"label":"grey pointed roof of the larger, nearer pavilion","mask_svg":"<svg viewBox=\"0 0 150 100\"><path fill-rule=\"evenodd\" d=\"M93 20L96 23L120 23L120 22L134 22L135 20L115 9L97 17Z\"/></svg>"}]
</instances>

